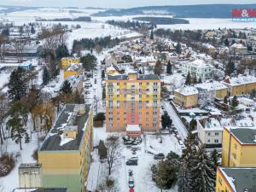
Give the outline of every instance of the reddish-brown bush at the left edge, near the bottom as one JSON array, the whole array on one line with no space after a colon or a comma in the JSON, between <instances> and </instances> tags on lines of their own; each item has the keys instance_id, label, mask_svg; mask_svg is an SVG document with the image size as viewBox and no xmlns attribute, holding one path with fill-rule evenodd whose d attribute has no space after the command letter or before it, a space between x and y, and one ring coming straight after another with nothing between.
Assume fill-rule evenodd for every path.
<instances>
[{"instance_id":1,"label":"reddish-brown bush at the left edge, near the bottom","mask_svg":"<svg viewBox=\"0 0 256 192\"><path fill-rule=\"evenodd\" d=\"M15 159L12 154L3 154L0 158L0 177L9 174L15 167Z\"/></svg>"}]
</instances>

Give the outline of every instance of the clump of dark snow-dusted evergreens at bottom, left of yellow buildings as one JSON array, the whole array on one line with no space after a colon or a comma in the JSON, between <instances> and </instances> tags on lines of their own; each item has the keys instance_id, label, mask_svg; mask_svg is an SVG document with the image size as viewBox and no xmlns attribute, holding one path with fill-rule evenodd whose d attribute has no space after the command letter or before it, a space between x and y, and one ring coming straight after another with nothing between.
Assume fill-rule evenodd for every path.
<instances>
[{"instance_id":1,"label":"clump of dark snow-dusted evergreens at bottom, left of yellow buildings","mask_svg":"<svg viewBox=\"0 0 256 192\"><path fill-rule=\"evenodd\" d=\"M166 160L153 165L152 179L161 191L177 183L178 192L212 192L219 159L216 150L207 153L197 138L189 133L183 154L179 156L171 152Z\"/></svg>"}]
</instances>

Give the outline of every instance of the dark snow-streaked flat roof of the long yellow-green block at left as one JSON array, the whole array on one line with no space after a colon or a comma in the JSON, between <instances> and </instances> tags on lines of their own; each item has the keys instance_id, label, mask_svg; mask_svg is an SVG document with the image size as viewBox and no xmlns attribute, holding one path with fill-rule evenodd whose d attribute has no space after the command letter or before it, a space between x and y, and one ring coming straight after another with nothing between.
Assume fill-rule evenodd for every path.
<instances>
[{"instance_id":1,"label":"dark snow-streaked flat roof of the long yellow-green block at left","mask_svg":"<svg viewBox=\"0 0 256 192\"><path fill-rule=\"evenodd\" d=\"M55 125L49 131L47 137L44 139L39 151L52 151L52 150L79 150L80 143L84 135L84 128L90 113L90 105L86 104L85 113L78 115L74 113L76 106L83 106L78 104L67 104L61 111L61 114L55 121ZM73 118L73 119L72 119ZM64 144L61 144L61 131L65 130L67 124L70 124L70 120L73 120L72 125L78 126L78 135L75 139L67 140Z\"/></svg>"}]
</instances>

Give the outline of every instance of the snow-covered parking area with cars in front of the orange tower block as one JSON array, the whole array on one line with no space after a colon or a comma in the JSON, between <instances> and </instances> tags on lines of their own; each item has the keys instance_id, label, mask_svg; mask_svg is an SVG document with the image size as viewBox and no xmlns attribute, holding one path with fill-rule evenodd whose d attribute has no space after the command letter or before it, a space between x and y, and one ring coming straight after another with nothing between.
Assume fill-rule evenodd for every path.
<instances>
[{"instance_id":1,"label":"snow-covered parking area with cars in front of the orange tower block","mask_svg":"<svg viewBox=\"0 0 256 192\"><path fill-rule=\"evenodd\" d=\"M120 191L129 191L129 187L133 187L135 192L159 191L152 181L150 167L162 160L162 154L166 156L170 151L181 154L182 148L177 137L174 134L145 134L142 142L137 144L124 143L123 139L121 140L121 165L116 174Z\"/></svg>"}]
</instances>

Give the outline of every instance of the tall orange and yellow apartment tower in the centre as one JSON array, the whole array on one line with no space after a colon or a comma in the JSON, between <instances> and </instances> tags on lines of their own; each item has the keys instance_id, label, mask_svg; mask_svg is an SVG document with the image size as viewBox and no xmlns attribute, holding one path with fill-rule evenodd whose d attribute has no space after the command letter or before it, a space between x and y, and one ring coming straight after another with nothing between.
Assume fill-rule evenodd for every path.
<instances>
[{"instance_id":1,"label":"tall orange and yellow apartment tower in the centre","mask_svg":"<svg viewBox=\"0 0 256 192\"><path fill-rule=\"evenodd\" d=\"M107 131L126 131L129 125L138 125L142 131L160 130L160 79L157 75L108 75Z\"/></svg>"}]
</instances>

